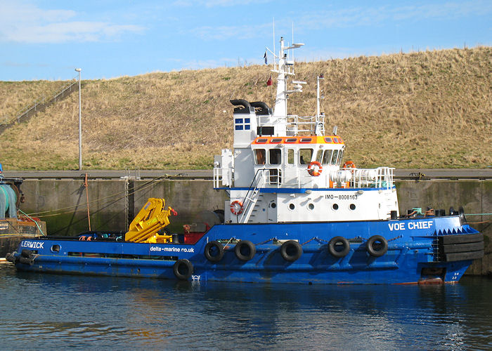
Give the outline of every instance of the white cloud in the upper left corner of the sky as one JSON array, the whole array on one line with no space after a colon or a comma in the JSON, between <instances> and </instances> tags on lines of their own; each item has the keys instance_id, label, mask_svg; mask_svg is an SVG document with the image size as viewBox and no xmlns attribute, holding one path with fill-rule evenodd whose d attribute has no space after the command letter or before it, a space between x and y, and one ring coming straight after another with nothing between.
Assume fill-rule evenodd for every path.
<instances>
[{"instance_id":1,"label":"white cloud in the upper left corner of the sky","mask_svg":"<svg viewBox=\"0 0 492 351\"><path fill-rule=\"evenodd\" d=\"M32 4L0 0L0 41L66 43L113 40L125 33L143 32L138 25L73 20L71 10L44 10Z\"/></svg>"}]
</instances>

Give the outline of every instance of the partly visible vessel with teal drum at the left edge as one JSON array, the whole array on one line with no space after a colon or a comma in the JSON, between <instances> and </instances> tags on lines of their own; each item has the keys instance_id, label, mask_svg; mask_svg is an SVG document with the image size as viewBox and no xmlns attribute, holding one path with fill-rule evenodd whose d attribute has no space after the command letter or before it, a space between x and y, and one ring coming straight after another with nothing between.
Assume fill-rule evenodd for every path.
<instances>
[{"instance_id":1,"label":"partly visible vessel with teal drum at the left edge","mask_svg":"<svg viewBox=\"0 0 492 351\"><path fill-rule=\"evenodd\" d=\"M19 215L19 205L24 202L20 190L21 178L6 178L0 164L0 260L17 248L22 239L41 237L46 233L46 223L39 218Z\"/></svg>"}]
</instances>

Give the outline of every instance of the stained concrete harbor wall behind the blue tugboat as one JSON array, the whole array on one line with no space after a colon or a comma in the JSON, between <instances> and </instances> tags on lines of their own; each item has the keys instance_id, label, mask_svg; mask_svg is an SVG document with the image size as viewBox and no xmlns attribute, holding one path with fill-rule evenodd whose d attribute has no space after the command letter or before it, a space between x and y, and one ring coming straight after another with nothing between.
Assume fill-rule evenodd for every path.
<instances>
[{"instance_id":1,"label":"stained concrete harbor wall behind the blue tugboat","mask_svg":"<svg viewBox=\"0 0 492 351\"><path fill-rule=\"evenodd\" d=\"M450 206L465 213L491 213L492 180L397 180L399 209ZM75 235L89 230L126 232L131 219L149 197L162 197L175 208L169 230L181 232L184 224L196 222L203 211L224 208L226 194L212 189L212 180L129 180L95 179L85 187L81 179L27 179L22 184L26 201L22 211L36 213L46 221L49 235ZM129 195L129 196L127 196ZM226 208L228 211L228 208ZM484 233L485 256L475 260L467 274L492 274L492 216L467 216L475 229Z\"/></svg>"}]
</instances>

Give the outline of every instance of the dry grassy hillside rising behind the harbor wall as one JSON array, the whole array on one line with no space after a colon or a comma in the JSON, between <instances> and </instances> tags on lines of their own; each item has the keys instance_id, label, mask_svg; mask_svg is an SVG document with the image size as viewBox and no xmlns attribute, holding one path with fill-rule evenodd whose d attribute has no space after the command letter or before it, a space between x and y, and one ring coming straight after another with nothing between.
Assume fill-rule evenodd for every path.
<instances>
[{"instance_id":1,"label":"dry grassy hillside rising behind the harbor wall","mask_svg":"<svg viewBox=\"0 0 492 351\"><path fill-rule=\"evenodd\" d=\"M229 100L273 105L269 67L151 73L82 82L84 168L211 168L232 146ZM492 48L299 62L304 93L291 114L316 109L323 73L326 129L338 126L359 167L492 165ZM275 83L275 78L274 83ZM0 121L60 81L0 82ZM6 169L77 169L78 94L0 135Z\"/></svg>"}]
</instances>

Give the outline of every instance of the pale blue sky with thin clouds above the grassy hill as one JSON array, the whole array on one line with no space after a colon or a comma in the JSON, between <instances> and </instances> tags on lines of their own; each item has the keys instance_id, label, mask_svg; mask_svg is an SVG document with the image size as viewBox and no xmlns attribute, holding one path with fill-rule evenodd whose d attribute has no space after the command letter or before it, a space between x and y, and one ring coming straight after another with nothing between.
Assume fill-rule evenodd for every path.
<instances>
[{"instance_id":1,"label":"pale blue sky with thin clouds above the grassy hill","mask_svg":"<svg viewBox=\"0 0 492 351\"><path fill-rule=\"evenodd\" d=\"M492 44L491 0L0 0L0 80L261 63L273 20L297 60Z\"/></svg>"}]
</instances>

